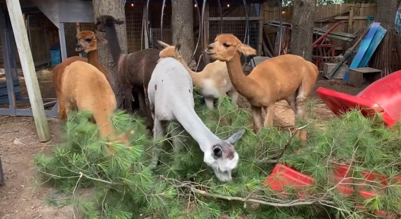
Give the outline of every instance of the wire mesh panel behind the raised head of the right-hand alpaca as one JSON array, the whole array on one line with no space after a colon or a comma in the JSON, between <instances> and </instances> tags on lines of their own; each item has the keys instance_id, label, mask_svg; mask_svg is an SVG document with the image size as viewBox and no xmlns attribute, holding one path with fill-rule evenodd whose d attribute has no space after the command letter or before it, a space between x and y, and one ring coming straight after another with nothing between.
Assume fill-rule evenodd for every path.
<instances>
[{"instance_id":1,"label":"wire mesh panel behind the raised head of the right-hand alpaca","mask_svg":"<svg viewBox=\"0 0 401 219\"><path fill-rule=\"evenodd\" d=\"M259 43L259 22L260 20L249 20L249 44L252 48L258 49ZM245 20L223 20L223 33L232 34L238 37L242 42L245 37ZM209 43L214 41L217 35L220 34L220 20L209 21Z\"/></svg>"}]
</instances>

